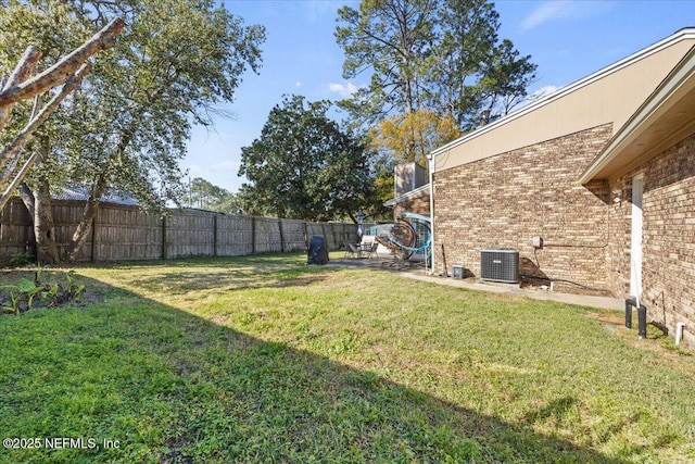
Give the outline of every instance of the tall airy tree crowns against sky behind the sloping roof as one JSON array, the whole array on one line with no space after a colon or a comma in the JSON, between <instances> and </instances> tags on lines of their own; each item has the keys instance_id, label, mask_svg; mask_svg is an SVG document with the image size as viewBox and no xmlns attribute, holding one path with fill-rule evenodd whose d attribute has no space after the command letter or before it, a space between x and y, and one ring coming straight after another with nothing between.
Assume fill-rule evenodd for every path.
<instances>
[{"instance_id":1,"label":"tall airy tree crowns against sky behind the sloping roof","mask_svg":"<svg viewBox=\"0 0 695 464\"><path fill-rule=\"evenodd\" d=\"M488 0L363 0L336 29L343 76L370 84L340 102L358 124L418 110L448 113L462 129L505 114L534 78L530 57L500 41Z\"/></svg>"}]
</instances>

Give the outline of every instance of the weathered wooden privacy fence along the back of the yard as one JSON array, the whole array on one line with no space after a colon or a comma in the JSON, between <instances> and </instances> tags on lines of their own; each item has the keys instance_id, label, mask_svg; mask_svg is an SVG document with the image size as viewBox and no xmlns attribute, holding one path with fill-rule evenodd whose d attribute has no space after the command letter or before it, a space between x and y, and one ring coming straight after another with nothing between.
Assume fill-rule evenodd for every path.
<instances>
[{"instance_id":1,"label":"weathered wooden privacy fence along the back of the yard","mask_svg":"<svg viewBox=\"0 0 695 464\"><path fill-rule=\"evenodd\" d=\"M85 203L53 200L59 251L70 242ZM326 238L329 250L354 239L356 224L306 223L240 216L200 210L170 210L160 217L138 206L102 203L77 261L166 260L184 256L238 256L305 251L313 236ZM30 251L31 221L18 198L0 212L0 262Z\"/></svg>"}]
</instances>

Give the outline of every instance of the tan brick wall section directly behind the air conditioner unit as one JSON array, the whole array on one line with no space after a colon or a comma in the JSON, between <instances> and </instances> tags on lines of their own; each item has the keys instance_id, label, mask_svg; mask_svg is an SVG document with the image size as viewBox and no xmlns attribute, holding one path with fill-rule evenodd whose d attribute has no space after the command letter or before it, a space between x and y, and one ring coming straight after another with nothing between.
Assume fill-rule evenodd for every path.
<instances>
[{"instance_id":1,"label":"tan brick wall section directly behind the air conditioner unit","mask_svg":"<svg viewBox=\"0 0 695 464\"><path fill-rule=\"evenodd\" d=\"M462 265L471 276L480 274L480 250L498 246L519 251L525 274L609 289L610 190L578 179L610 136L607 124L435 173L435 272L442 244L450 274ZM544 240L536 253L535 236ZM593 292L564 283L556 289Z\"/></svg>"}]
</instances>

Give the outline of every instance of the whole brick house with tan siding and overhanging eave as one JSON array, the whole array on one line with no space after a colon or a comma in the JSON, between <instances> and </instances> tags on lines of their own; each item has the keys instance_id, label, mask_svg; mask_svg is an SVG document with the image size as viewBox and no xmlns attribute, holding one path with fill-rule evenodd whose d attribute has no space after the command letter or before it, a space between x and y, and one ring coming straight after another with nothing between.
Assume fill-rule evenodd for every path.
<instances>
[{"instance_id":1,"label":"whole brick house with tan siding and overhanging eave","mask_svg":"<svg viewBox=\"0 0 695 464\"><path fill-rule=\"evenodd\" d=\"M442 246L472 276L511 248L527 281L636 296L695 347L694 46L679 30L433 151L434 273Z\"/></svg>"}]
</instances>

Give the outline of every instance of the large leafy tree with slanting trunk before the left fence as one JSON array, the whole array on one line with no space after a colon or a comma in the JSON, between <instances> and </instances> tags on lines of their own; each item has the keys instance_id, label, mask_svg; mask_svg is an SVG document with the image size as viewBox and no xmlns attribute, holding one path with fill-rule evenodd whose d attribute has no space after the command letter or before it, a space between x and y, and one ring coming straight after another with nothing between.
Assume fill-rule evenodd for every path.
<instances>
[{"instance_id":1,"label":"large leafy tree with slanting trunk before the left fence","mask_svg":"<svg viewBox=\"0 0 695 464\"><path fill-rule=\"evenodd\" d=\"M84 186L90 193L65 251L72 260L109 189L127 191L154 209L184 197L178 161L191 124L210 124L214 105L233 100L242 74L257 72L265 30L243 26L213 0L45 0L31 8L53 16L58 3L66 9L61 17L84 28L114 15L128 24L58 122L60 140L50 141L54 163L46 166L46 179L52 187L61 180Z\"/></svg>"}]
</instances>

